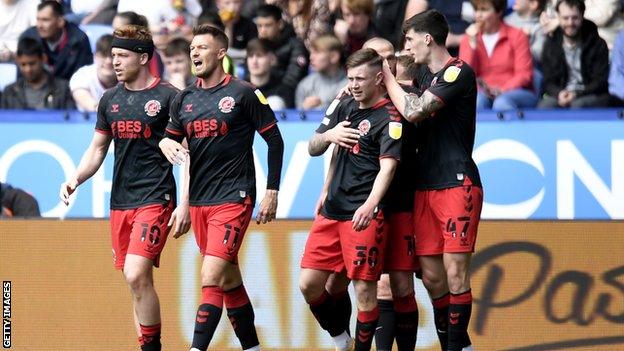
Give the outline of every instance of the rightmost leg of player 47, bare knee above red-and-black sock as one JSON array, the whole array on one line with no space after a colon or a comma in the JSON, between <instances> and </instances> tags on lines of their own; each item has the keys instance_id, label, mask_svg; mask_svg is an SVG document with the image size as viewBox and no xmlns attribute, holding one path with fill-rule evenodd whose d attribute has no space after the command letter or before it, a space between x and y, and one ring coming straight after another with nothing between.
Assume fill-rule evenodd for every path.
<instances>
[{"instance_id":1,"label":"rightmost leg of player 47, bare knee above red-and-black sock","mask_svg":"<svg viewBox=\"0 0 624 351\"><path fill-rule=\"evenodd\" d=\"M449 306L449 350L460 351L471 344L468 322L472 312L472 294L468 269L470 253L445 253L444 266L451 291Z\"/></svg>"}]
</instances>

